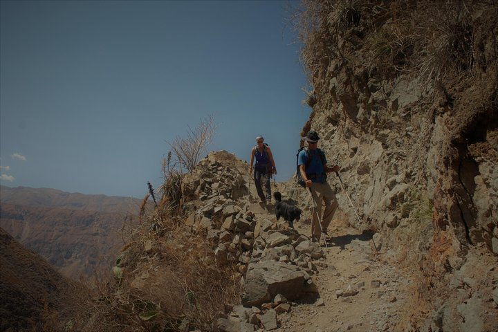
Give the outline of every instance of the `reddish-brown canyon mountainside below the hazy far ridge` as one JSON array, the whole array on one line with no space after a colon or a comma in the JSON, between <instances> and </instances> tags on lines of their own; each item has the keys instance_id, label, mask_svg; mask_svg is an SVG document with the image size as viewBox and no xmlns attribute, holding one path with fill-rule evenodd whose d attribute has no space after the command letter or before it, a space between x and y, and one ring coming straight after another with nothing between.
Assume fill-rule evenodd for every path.
<instances>
[{"instance_id":1,"label":"reddish-brown canyon mountainside below the hazy far ridge","mask_svg":"<svg viewBox=\"0 0 498 332\"><path fill-rule=\"evenodd\" d=\"M123 243L118 234L123 222L118 213L0 206L0 226L73 279L111 266Z\"/></svg>"}]
</instances>

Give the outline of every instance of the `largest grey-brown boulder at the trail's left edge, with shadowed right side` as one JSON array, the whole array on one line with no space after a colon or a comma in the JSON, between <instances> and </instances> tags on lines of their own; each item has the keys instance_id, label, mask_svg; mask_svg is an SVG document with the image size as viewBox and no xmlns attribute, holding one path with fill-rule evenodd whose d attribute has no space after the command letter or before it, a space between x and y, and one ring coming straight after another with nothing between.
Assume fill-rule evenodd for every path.
<instances>
[{"instance_id":1,"label":"largest grey-brown boulder at the trail's left edge, with shadowed right side","mask_svg":"<svg viewBox=\"0 0 498 332\"><path fill-rule=\"evenodd\" d=\"M293 300L308 292L306 275L297 266L277 261L249 264L246 274L243 306L259 306L275 295Z\"/></svg>"}]
</instances>

